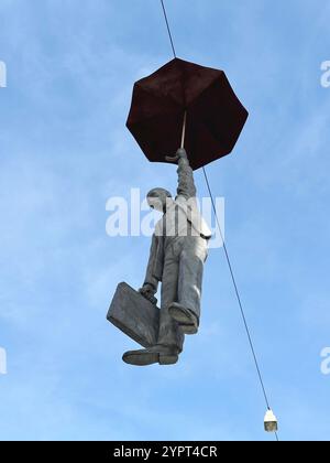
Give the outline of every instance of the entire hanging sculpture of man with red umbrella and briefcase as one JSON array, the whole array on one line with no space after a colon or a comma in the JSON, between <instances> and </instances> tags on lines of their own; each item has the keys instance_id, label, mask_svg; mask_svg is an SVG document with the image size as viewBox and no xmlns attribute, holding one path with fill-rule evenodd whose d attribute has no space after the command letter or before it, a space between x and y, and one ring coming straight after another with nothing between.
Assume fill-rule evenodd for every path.
<instances>
[{"instance_id":1,"label":"entire hanging sculpture of man with red umbrella and briefcase","mask_svg":"<svg viewBox=\"0 0 330 463\"><path fill-rule=\"evenodd\" d=\"M147 194L163 217L144 284L136 292L120 283L108 312L111 323L144 347L127 352L128 364L175 364L185 335L198 331L211 233L197 207L193 171L229 154L246 118L223 71L174 58L134 85L127 126L150 161L178 163L178 187L175 200L161 187Z\"/></svg>"}]
</instances>

